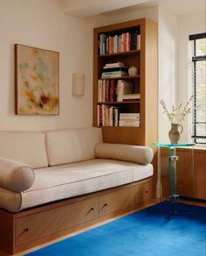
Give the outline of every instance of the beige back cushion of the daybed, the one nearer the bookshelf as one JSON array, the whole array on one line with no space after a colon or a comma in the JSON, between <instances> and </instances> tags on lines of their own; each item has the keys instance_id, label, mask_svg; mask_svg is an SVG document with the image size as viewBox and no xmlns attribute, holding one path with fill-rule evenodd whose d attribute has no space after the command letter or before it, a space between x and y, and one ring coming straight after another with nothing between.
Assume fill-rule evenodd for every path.
<instances>
[{"instance_id":1,"label":"beige back cushion of the daybed, the one nearer the bookshelf","mask_svg":"<svg viewBox=\"0 0 206 256\"><path fill-rule=\"evenodd\" d=\"M94 127L45 134L49 166L94 159L94 148L102 142L101 129Z\"/></svg>"}]
</instances>

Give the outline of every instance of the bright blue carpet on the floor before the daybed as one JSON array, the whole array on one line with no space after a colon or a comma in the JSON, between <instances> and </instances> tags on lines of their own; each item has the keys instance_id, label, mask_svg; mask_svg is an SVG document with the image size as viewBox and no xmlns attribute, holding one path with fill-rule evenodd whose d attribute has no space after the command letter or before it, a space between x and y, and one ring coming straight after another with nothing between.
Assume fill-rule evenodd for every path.
<instances>
[{"instance_id":1,"label":"bright blue carpet on the floor before the daybed","mask_svg":"<svg viewBox=\"0 0 206 256\"><path fill-rule=\"evenodd\" d=\"M189 205L179 204L182 210ZM28 256L205 256L205 208L168 217L159 203L111 223L49 245Z\"/></svg>"}]
</instances>

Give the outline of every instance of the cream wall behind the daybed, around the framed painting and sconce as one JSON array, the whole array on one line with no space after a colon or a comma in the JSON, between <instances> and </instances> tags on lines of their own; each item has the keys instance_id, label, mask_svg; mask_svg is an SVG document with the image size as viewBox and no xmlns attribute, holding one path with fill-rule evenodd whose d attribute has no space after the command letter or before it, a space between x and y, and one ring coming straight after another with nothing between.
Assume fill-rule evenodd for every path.
<instances>
[{"instance_id":1,"label":"cream wall behind the daybed, around the framed painting and sconce","mask_svg":"<svg viewBox=\"0 0 206 256\"><path fill-rule=\"evenodd\" d=\"M93 28L65 15L58 0L0 1L0 130L92 125ZM14 115L14 44L60 53L60 115ZM85 96L72 96L72 72L86 74Z\"/></svg>"}]
</instances>

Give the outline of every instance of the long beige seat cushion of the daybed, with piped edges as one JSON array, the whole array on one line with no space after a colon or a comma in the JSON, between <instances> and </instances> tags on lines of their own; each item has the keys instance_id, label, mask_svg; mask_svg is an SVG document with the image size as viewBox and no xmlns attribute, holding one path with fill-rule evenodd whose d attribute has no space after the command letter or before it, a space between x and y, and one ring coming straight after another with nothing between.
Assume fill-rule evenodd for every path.
<instances>
[{"instance_id":1,"label":"long beige seat cushion of the daybed, with piped edges","mask_svg":"<svg viewBox=\"0 0 206 256\"><path fill-rule=\"evenodd\" d=\"M21 201L17 193L8 194L8 190L1 189L0 207L18 211L140 181L153 175L153 166L151 164L142 166L119 160L95 159L36 169L34 172L35 181L31 188L19 193Z\"/></svg>"}]
</instances>

